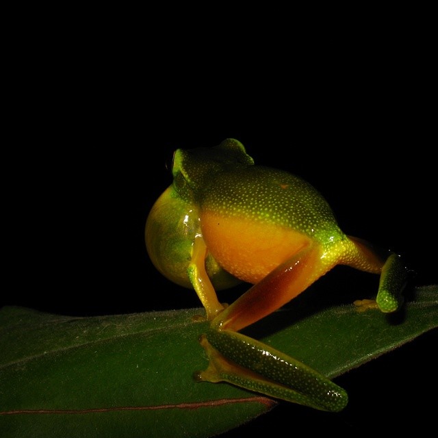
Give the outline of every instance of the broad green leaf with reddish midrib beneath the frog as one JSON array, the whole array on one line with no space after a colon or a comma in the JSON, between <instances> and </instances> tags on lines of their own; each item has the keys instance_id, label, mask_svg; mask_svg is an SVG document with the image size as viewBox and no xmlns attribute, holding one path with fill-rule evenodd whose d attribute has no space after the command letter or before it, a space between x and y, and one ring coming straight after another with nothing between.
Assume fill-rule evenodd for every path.
<instances>
[{"instance_id":1,"label":"broad green leaf with reddish midrib beneath the frog","mask_svg":"<svg viewBox=\"0 0 438 438\"><path fill-rule=\"evenodd\" d=\"M290 305L245 333L334 378L438 326L438 285L396 315ZM226 383L196 383L203 309L73 318L0 311L0 436L209 437L276 405Z\"/></svg>"}]
</instances>

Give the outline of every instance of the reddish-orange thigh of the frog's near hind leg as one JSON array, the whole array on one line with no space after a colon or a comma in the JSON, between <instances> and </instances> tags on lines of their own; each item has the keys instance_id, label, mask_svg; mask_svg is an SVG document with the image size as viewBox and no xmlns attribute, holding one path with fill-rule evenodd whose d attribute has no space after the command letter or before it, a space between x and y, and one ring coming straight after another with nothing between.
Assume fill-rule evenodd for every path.
<instances>
[{"instance_id":1,"label":"reddish-orange thigh of the frog's near hind leg","mask_svg":"<svg viewBox=\"0 0 438 438\"><path fill-rule=\"evenodd\" d=\"M325 263L318 244L310 244L251 287L214 320L222 329L239 331L279 309L335 266Z\"/></svg>"}]
</instances>

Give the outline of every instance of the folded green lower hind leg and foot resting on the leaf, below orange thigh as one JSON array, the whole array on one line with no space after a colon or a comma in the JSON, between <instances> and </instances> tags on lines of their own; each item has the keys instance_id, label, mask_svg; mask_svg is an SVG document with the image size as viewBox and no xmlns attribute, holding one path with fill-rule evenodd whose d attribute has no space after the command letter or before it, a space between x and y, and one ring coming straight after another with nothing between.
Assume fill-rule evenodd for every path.
<instances>
[{"instance_id":1,"label":"folded green lower hind leg and foot resting on the leaf, below orange thigh","mask_svg":"<svg viewBox=\"0 0 438 438\"><path fill-rule=\"evenodd\" d=\"M228 382L322 411L342 411L348 403L346 391L322 374L241 333L210 329L201 345L209 365L194 374L198 382Z\"/></svg>"}]
</instances>

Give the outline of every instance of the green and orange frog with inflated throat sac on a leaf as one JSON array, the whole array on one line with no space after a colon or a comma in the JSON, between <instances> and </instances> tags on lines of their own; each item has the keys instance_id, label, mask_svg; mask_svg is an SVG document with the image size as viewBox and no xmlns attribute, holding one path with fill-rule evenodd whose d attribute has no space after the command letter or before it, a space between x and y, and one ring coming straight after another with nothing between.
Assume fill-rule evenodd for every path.
<instances>
[{"instance_id":1,"label":"green and orange frog with inflated throat sac on a leaf","mask_svg":"<svg viewBox=\"0 0 438 438\"><path fill-rule=\"evenodd\" d=\"M347 235L311 183L287 170L255 164L245 146L176 149L172 183L146 218L145 241L159 272L194 289L208 321L199 338L209 363L197 382L227 382L270 398L339 412L346 391L318 370L243 329L281 309L338 265L378 274L368 306L402 307L408 270L402 257ZM230 305L218 292L248 289Z\"/></svg>"}]
</instances>

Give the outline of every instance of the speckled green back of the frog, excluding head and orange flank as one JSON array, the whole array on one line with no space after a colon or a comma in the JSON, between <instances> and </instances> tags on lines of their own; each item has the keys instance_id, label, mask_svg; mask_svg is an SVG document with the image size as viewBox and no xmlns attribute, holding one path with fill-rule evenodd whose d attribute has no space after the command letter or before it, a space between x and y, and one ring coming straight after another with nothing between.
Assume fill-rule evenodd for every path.
<instances>
[{"instance_id":1,"label":"speckled green back of the frog, excluding head and orange flank","mask_svg":"<svg viewBox=\"0 0 438 438\"><path fill-rule=\"evenodd\" d=\"M318 190L296 175L265 166L217 175L201 205L203 211L275 224L311 238L338 229L331 207Z\"/></svg>"}]
</instances>

